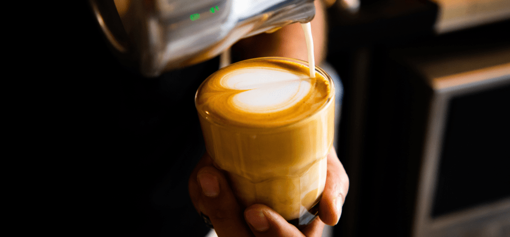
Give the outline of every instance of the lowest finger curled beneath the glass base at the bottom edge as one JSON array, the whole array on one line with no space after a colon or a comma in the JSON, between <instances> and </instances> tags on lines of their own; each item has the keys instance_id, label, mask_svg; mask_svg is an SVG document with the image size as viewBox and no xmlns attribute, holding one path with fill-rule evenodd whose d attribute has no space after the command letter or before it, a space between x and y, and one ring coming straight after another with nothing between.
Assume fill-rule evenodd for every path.
<instances>
[{"instance_id":1,"label":"lowest finger curled beneath the glass base at the bottom edge","mask_svg":"<svg viewBox=\"0 0 510 237\"><path fill-rule=\"evenodd\" d=\"M263 204L254 204L246 208L244 218L257 237L320 237L324 228L324 223L317 218L301 232L273 209Z\"/></svg>"}]
</instances>

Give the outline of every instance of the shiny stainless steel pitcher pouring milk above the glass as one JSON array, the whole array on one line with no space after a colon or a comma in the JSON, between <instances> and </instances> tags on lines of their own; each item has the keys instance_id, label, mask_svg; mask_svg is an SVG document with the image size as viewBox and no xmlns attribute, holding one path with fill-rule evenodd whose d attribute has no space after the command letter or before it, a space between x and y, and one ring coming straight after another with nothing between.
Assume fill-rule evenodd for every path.
<instances>
[{"instance_id":1,"label":"shiny stainless steel pitcher pouring milk above the glass","mask_svg":"<svg viewBox=\"0 0 510 237\"><path fill-rule=\"evenodd\" d=\"M313 0L89 0L115 54L145 76L218 56L238 40L315 16Z\"/></svg>"}]
</instances>

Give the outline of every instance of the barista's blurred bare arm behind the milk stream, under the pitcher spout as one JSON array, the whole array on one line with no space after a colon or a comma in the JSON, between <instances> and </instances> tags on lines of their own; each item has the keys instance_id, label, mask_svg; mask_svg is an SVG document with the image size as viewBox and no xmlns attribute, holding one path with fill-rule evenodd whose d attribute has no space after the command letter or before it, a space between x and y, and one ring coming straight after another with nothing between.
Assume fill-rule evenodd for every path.
<instances>
[{"instance_id":1,"label":"barista's blurred bare arm behind the milk stream, under the pitcher spout","mask_svg":"<svg viewBox=\"0 0 510 237\"><path fill-rule=\"evenodd\" d=\"M315 64L326 57L327 23L325 8L334 0L316 0L315 17L311 21ZM239 60L258 57L287 57L308 61L307 43L299 23L293 23L271 33L262 33L239 41L232 47L234 58Z\"/></svg>"}]
</instances>

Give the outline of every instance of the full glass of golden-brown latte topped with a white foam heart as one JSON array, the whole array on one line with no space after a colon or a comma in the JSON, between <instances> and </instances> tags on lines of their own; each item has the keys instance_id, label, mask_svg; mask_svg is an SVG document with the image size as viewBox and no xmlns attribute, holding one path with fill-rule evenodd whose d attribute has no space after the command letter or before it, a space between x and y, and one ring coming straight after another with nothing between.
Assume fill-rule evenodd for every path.
<instances>
[{"instance_id":1,"label":"full glass of golden-brown latte topped with a white foam heart","mask_svg":"<svg viewBox=\"0 0 510 237\"><path fill-rule=\"evenodd\" d=\"M262 203L299 223L317 214L335 118L334 85L320 69L311 78L306 65L235 63L209 76L195 97L207 152L241 204Z\"/></svg>"}]
</instances>

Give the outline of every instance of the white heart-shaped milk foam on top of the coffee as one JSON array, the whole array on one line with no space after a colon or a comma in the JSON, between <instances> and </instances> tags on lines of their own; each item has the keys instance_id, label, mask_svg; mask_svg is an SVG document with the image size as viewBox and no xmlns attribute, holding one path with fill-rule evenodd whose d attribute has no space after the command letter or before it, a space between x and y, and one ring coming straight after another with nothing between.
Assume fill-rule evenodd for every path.
<instances>
[{"instance_id":1,"label":"white heart-shaped milk foam on top of the coffee","mask_svg":"<svg viewBox=\"0 0 510 237\"><path fill-rule=\"evenodd\" d=\"M274 113L294 106L312 85L308 75L270 67L241 68L225 74L225 88L245 90L232 97L233 106L251 113Z\"/></svg>"}]
</instances>

